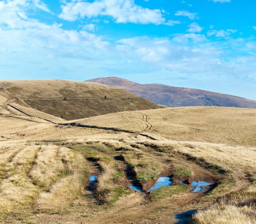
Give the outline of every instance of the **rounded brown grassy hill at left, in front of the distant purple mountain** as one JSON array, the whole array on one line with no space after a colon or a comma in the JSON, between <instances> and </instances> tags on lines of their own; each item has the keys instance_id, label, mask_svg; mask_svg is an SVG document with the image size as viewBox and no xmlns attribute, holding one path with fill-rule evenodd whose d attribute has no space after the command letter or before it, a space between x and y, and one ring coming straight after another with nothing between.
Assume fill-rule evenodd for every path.
<instances>
[{"instance_id":1,"label":"rounded brown grassy hill at left, in front of the distant purple mountain","mask_svg":"<svg viewBox=\"0 0 256 224\"><path fill-rule=\"evenodd\" d=\"M66 120L160 108L129 92L98 83L65 80L0 81L2 113L13 113L15 108L20 113L15 103L23 106L23 112L26 107L23 115L31 115L32 110L29 108L33 108Z\"/></svg>"}]
</instances>

